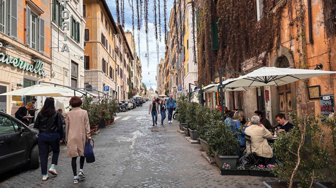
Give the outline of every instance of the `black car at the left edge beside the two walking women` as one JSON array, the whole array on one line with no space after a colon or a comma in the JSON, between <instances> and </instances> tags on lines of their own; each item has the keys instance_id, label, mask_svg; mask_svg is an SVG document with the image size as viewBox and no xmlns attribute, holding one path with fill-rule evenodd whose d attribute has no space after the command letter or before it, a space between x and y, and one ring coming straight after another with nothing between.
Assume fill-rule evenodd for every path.
<instances>
[{"instance_id":1,"label":"black car at the left edge beside the two walking women","mask_svg":"<svg viewBox=\"0 0 336 188\"><path fill-rule=\"evenodd\" d=\"M22 164L39 168L39 131L0 111L0 174Z\"/></svg>"}]
</instances>

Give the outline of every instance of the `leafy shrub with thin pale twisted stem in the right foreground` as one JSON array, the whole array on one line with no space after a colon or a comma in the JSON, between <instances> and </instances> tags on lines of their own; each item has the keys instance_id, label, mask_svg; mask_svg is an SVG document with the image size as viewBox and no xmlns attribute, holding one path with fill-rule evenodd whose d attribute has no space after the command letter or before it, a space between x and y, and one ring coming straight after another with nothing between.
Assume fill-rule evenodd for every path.
<instances>
[{"instance_id":1,"label":"leafy shrub with thin pale twisted stem in the right foreground","mask_svg":"<svg viewBox=\"0 0 336 188\"><path fill-rule=\"evenodd\" d=\"M297 180L300 187L310 188L316 179L327 178L323 168L332 169L331 165L335 166L322 145L326 129L323 129L323 123L315 115L302 114L297 117L296 112L291 112L290 117L294 127L280 134L273 145L276 158L282 162L280 165L275 164L274 174L279 176L278 182L288 183L287 187L293 188L294 180Z\"/></svg>"}]
</instances>

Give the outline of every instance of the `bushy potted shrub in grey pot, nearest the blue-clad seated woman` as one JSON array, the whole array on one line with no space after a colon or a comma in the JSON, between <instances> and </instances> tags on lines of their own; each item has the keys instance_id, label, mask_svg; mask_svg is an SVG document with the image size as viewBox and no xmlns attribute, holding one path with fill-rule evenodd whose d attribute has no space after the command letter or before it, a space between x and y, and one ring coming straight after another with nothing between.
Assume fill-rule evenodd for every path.
<instances>
[{"instance_id":1,"label":"bushy potted shrub in grey pot, nearest the blue-clad seated woman","mask_svg":"<svg viewBox=\"0 0 336 188\"><path fill-rule=\"evenodd\" d=\"M236 167L238 156L239 141L237 133L228 128L224 122L216 121L207 132L211 136L209 139L210 149L214 151L214 158L218 168L224 163L231 167Z\"/></svg>"}]
</instances>

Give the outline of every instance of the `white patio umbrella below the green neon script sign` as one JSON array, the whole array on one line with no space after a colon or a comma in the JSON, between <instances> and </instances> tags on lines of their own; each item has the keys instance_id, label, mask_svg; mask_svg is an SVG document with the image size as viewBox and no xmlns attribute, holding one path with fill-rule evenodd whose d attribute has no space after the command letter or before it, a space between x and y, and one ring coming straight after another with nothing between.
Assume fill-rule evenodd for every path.
<instances>
[{"instance_id":1,"label":"white patio umbrella below the green neon script sign","mask_svg":"<svg viewBox=\"0 0 336 188\"><path fill-rule=\"evenodd\" d=\"M28 96L74 96L74 91L52 86L34 85L20 90L0 95L28 95ZM78 94L78 96L80 93ZM77 96L77 95L76 95Z\"/></svg>"}]
</instances>

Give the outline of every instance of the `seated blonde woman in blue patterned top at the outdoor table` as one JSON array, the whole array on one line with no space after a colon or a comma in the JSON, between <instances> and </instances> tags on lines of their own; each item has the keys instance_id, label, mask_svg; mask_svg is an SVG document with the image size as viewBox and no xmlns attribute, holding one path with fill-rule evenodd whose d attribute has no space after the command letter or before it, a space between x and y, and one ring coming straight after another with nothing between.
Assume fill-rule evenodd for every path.
<instances>
[{"instance_id":1,"label":"seated blonde woman in blue patterned top at the outdoor table","mask_svg":"<svg viewBox=\"0 0 336 188\"><path fill-rule=\"evenodd\" d=\"M244 126L244 124L242 124L243 120L244 120L244 112L238 110L234 113L232 119L230 117L228 117L228 118L225 119L224 123L227 126L229 126L234 133L237 133L237 132L239 132L239 129L242 126ZM245 126L243 132L241 134L238 134L237 139L240 142L241 147L245 147L245 144L246 144L245 137L244 137L244 132L245 132L245 129L247 127L248 126Z\"/></svg>"}]
</instances>

